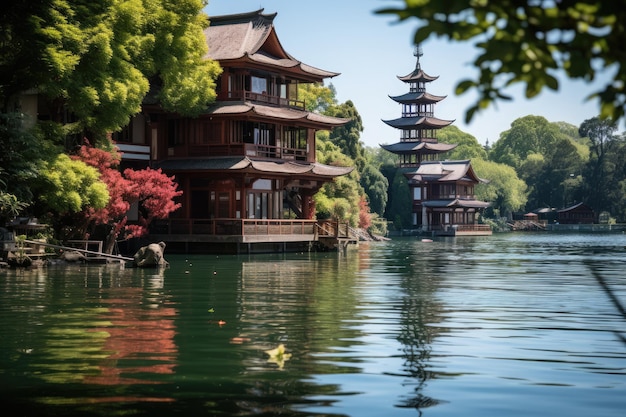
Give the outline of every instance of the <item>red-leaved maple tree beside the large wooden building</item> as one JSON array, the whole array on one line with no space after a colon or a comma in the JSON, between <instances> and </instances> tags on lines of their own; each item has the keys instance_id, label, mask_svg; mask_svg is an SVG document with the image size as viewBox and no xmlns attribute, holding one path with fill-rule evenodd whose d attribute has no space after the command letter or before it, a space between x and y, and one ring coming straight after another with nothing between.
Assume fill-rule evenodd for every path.
<instances>
[{"instance_id":1,"label":"red-leaved maple tree beside the large wooden building","mask_svg":"<svg viewBox=\"0 0 626 417\"><path fill-rule=\"evenodd\" d=\"M89 208L85 215L93 225L107 225L104 252L112 253L118 238L130 239L144 236L153 219L165 219L181 205L175 198L182 195L174 177L168 177L161 169L145 168L119 170L121 154L89 144L81 146L74 158L98 169L100 180L107 185L109 203L102 209ZM139 218L129 224L128 212L138 204Z\"/></svg>"}]
</instances>

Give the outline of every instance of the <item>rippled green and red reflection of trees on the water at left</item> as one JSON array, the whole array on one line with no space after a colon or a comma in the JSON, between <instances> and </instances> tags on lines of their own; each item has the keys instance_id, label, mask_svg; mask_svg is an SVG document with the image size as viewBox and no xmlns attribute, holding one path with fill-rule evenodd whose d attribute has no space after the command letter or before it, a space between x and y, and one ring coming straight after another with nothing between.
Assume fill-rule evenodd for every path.
<instances>
[{"instance_id":1,"label":"rippled green and red reflection of trees on the water at left","mask_svg":"<svg viewBox=\"0 0 626 417\"><path fill-rule=\"evenodd\" d=\"M125 271L119 265L55 266L7 271L4 297L19 300L2 320L12 342L4 375L24 386L153 384L172 374L176 310L163 293L163 272ZM3 305L7 305L3 299ZM3 349L4 350L4 349ZM12 372L11 372L12 371ZM19 375L19 377L18 377ZM54 390L52 390L53 392ZM44 404L120 401L63 393Z\"/></svg>"}]
</instances>

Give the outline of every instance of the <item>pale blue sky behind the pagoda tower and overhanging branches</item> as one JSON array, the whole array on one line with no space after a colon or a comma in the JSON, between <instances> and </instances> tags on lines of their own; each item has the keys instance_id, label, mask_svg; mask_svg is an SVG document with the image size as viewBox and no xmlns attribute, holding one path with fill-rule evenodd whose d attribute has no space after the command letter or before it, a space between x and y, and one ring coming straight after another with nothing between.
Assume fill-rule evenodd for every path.
<instances>
[{"instance_id":1,"label":"pale blue sky behind the pagoda tower and overhanging branches","mask_svg":"<svg viewBox=\"0 0 626 417\"><path fill-rule=\"evenodd\" d=\"M382 120L400 116L401 107L389 98L408 91L397 79L415 68L413 34L418 21L398 23L393 16L374 14L388 6L401 6L398 0L209 0L210 16L264 9L278 13L274 20L283 47L296 59L314 67L339 72L329 79L340 103L351 100L363 120L361 141L365 146L399 141L399 132ZM476 71L471 66L476 51L471 44L449 43L431 38L422 44L422 69L439 79L428 91L447 98L437 104L435 115L455 120L454 125L484 144L493 144L511 123L527 115L544 116L550 122L564 121L579 126L599 114L596 101L585 98L608 81L599 74L592 84L560 80L558 92L545 91L526 99L521 87L509 90L512 102L499 103L474 116L465 124L465 111L475 96L454 94L456 84Z\"/></svg>"}]
</instances>

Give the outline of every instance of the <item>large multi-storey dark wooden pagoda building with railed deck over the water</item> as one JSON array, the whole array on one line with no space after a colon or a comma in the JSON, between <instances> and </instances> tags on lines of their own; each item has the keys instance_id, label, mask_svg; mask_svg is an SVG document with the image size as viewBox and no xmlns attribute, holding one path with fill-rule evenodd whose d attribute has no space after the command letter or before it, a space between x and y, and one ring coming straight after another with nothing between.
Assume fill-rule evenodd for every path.
<instances>
[{"instance_id":1,"label":"large multi-storey dark wooden pagoda building with railed deck over the water","mask_svg":"<svg viewBox=\"0 0 626 417\"><path fill-rule=\"evenodd\" d=\"M309 112L298 97L301 83L338 73L285 51L275 17L263 9L212 16L207 58L223 68L216 102L197 118L146 104L126 142L118 142L124 156L148 159L183 191L182 208L149 236L168 251L306 250L326 237L350 239L336 224L315 220L313 201L325 183L353 169L316 162L315 133L348 120Z\"/></svg>"}]
</instances>

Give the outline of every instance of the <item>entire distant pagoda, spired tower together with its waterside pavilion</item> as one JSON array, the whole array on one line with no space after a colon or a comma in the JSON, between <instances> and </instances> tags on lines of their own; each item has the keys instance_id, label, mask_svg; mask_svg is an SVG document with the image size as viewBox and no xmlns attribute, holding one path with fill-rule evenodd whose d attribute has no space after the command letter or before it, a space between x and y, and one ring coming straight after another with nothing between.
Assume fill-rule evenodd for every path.
<instances>
[{"instance_id":1,"label":"entire distant pagoda, spired tower together with its waterside pavilion","mask_svg":"<svg viewBox=\"0 0 626 417\"><path fill-rule=\"evenodd\" d=\"M454 121L435 117L435 104L445 96L426 91L427 84L438 77L422 70L419 46L415 56L413 72L398 77L408 84L409 92L390 96L402 105L402 115L383 120L400 131L400 142L381 145L400 159L399 169L407 178L412 195L413 228L437 235L490 235L488 225L478 224L478 214L489 203L474 198L474 186L484 180L476 175L469 160L441 160L456 145L439 143L437 131Z\"/></svg>"}]
</instances>

